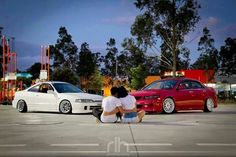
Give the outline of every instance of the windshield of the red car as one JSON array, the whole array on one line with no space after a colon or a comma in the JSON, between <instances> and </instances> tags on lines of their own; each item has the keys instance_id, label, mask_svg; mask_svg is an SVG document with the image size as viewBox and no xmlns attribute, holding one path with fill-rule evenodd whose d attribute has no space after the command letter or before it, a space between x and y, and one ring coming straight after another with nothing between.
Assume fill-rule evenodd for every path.
<instances>
[{"instance_id":1,"label":"windshield of the red car","mask_svg":"<svg viewBox=\"0 0 236 157\"><path fill-rule=\"evenodd\" d=\"M143 90L149 90L149 89L172 89L176 85L176 80L161 80L161 81L155 81L146 87L143 88Z\"/></svg>"}]
</instances>

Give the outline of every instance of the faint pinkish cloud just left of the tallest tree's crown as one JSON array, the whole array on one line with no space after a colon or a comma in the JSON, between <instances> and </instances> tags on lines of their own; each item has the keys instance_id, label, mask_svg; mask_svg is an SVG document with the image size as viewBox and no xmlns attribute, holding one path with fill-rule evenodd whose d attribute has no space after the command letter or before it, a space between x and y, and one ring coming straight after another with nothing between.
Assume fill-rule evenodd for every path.
<instances>
[{"instance_id":1,"label":"faint pinkish cloud just left of the tallest tree's crown","mask_svg":"<svg viewBox=\"0 0 236 157\"><path fill-rule=\"evenodd\" d=\"M130 25L134 22L134 20L135 16L125 16L125 17L103 19L102 22L109 24L118 24L118 25Z\"/></svg>"}]
</instances>

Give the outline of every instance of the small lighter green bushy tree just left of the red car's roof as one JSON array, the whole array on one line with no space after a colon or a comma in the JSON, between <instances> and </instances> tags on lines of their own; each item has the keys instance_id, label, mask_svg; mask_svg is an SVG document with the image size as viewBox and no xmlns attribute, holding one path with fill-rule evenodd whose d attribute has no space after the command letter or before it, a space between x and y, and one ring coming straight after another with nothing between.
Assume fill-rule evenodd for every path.
<instances>
[{"instance_id":1,"label":"small lighter green bushy tree just left of the red car's roof","mask_svg":"<svg viewBox=\"0 0 236 157\"><path fill-rule=\"evenodd\" d=\"M145 78L147 77L146 69L141 65L130 69L131 83L133 89L140 89L145 85Z\"/></svg>"}]
</instances>

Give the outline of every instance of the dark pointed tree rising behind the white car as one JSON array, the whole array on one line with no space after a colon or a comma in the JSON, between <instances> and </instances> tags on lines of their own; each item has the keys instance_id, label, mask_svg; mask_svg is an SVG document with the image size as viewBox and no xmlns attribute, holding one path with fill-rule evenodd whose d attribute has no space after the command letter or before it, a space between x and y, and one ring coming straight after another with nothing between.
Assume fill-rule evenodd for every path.
<instances>
[{"instance_id":1,"label":"dark pointed tree rising behind the white car","mask_svg":"<svg viewBox=\"0 0 236 157\"><path fill-rule=\"evenodd\" d=\"M51 57L54 68L69 68L72 71L77 69L78 48L68 34L65 27L59 29L59 39L54 47L51 47Z\"/></svg>"}]
</instances>

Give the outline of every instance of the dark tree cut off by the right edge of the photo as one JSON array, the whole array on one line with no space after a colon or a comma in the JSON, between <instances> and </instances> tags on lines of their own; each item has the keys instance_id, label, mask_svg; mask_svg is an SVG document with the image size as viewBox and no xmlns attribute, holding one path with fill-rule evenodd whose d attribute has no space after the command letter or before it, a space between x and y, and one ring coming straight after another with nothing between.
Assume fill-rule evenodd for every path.
<instances>
[{"instance_id":1,"label":"dark tree cut off by the right edge of the photo","mask_svg":"<svg viewBox=\"0 0 236 157\"><path fill-rule=\"evenodd\" d=\"M220 48L220 75L236 74L236 38L227 38Z\"/></svg>"}]
</instances>

